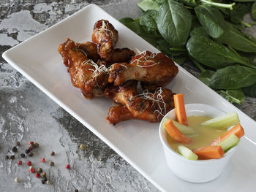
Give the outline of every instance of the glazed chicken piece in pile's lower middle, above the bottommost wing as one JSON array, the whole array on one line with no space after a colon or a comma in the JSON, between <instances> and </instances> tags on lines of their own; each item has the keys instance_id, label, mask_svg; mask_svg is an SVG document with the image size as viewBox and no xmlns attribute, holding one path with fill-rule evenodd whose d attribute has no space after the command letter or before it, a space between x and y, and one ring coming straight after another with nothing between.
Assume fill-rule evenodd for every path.
<instances>
[{"instance_id":1,"label":"glazed chicken piece in pile's lower middle, above the bottommost wing","mask_svg":"<svg viewBox=\"0 0 256 192\"><path fill-rule=\"evenodd\" d=\"M143 112L147 102L137 96L137 84L138 82L131 80L121 86L110 85L105 89L105 96L125 105L132 115L138 116Z\"/></svg>"}]
</instances>

